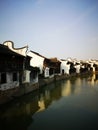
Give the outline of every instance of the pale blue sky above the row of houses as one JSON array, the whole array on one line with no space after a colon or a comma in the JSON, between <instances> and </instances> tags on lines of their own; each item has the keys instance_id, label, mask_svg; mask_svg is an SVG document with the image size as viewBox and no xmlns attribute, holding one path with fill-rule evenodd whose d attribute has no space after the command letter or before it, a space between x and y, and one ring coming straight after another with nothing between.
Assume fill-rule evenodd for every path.
<instances>
[{"instance_id":1,"label":"pale blue sky above the row of houses","mask_svg":"<svg viewBox=\"0 0 98 130\"><path fill-rule=\"evenodd\" d=\"M0 43L45 57L98 59L98 0L0 0Z\"/></svg>"}]
</instances>

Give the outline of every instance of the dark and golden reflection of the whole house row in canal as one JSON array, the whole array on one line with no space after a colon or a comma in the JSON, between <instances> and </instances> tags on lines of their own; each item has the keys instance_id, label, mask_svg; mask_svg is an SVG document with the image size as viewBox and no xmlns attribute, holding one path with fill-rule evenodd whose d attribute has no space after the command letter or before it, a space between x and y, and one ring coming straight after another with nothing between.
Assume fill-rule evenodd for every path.
<instances>
[{"instance_id":1,"label":"dark and golden reflection of the whole house row in canal","mask_svg":"<svg viewBox=\"0 0 98 130\"><path fill-rule=\"evenodd\" d=\"M33 115L36 112L46 110L62 96L79 94L84 85L96 85L98 88L98 75L55 82L41 88L35 95L28 95L7 107L0 108L0 130L27 130L28 126L33 123Z\"/></svg>"}]
</instances>

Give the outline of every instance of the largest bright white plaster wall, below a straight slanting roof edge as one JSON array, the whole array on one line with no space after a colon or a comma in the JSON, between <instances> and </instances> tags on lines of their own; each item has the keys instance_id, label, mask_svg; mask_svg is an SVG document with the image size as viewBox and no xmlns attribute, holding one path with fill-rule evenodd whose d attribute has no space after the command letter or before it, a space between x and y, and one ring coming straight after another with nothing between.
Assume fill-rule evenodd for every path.
<instances>
[{"instance_id":1,"label":"largest bright white plaster wall, below a straight slanting roof edge","mask_svg":"<svg viewBox=\"0 0 98 130\"><path fill-rule=\"evenodd\" d=\"M33 67L39 67L40 74L42 74L44 58L34 54L33 52L28 52L27 55L32 57L30 60L30 65Z\"/></svg>"}]
</instances>

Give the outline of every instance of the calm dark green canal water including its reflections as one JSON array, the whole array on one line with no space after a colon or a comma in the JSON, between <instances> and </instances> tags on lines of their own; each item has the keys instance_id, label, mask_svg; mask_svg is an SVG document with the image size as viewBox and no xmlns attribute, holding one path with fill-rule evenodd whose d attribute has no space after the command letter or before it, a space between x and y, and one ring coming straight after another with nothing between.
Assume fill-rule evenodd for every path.
<instances>
[{"instance_id":1,"label":"calm dark green canal water including its reflections","mask_svg":"<svg viewBox=\"0 0 98 130\"><path fill-rule=\"evenodd\" d=\"M0 107L0 130L98 130L98 75L47 85Z\"/></svg>"}]
</instances>

